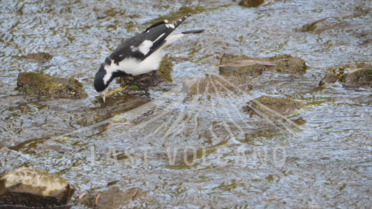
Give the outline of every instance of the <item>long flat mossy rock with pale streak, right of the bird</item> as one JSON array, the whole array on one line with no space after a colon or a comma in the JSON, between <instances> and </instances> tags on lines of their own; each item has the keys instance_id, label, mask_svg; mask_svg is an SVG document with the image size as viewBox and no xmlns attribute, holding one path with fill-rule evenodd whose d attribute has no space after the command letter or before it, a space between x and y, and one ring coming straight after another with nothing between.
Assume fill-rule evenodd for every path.
<instances>
[{"instance_id":1,"label":"long flat mossy rock with pale streak, right of the bird","mask_svg":"<svg viewBox=\"0 0 372 209\"><path fill-rule=\"evenodd\" d=\"M225 54L219 65L220 75L235 77L260 75L263 71L304 75L306 68L303 59L289 54L260 58Z\"/></svg>"}]
</instances>

